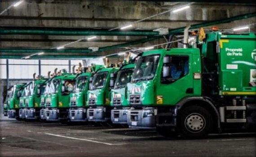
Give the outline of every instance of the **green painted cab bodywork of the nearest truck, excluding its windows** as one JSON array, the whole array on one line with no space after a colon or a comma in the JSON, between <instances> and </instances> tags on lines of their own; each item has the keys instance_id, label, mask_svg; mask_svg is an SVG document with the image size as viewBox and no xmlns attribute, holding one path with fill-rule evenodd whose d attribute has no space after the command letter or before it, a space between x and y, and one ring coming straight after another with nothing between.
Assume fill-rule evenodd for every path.
<instances>
[{"instance_id":1,"label":"green painted cab bodywork of the nearest truck, excluding its windows","mask_svg":"<svg viewBox=\"0 0 256 157\"><path fill-rule=\"evenodd\" d=\"M194 73L201 72L200 52L197 48L172 48L167 51L164 49L152 50L144 52L142 57L150 55L159 55L159 63L155 72L154 78L150 80L141 80L136 83L128 83L129 95L140 95L141 105L163 106L176 105L182 98L186 96L200 96L201 95L201 80L193 79ZM161 73L163 66L163 57L165 55L185 56L189 57L189 72L183 78L178 79L171 84L161 83ZM186 85L186 86L184 86ZM187 88L193 88L193 94L187 94ZM172 91L172 94L169 94ZM159 100L160 98L160 100ZM159 102L157 102L159 100ZM161 102L162 101L162 102Z\"/></svg>"}]
</instances>

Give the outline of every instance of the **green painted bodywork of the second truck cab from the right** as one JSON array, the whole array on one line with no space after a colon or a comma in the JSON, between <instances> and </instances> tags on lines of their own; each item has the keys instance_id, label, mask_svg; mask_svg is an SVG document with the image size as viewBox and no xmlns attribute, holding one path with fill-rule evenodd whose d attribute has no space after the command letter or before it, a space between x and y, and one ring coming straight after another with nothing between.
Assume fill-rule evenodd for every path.
<instances>
[{"instance_id":1,"label":"green painted bodywork of the second truck cab from the right","mask_svg":"<svg viewBox=\"0 0 256 157\"><path fill-rule=\"evenodd\" d=\"M121 70L134 69L134 67L135 67L135 64L127 64L127 65L124 65ZM126 92L127 92L127 87L120 87L120 88L117 88L117 89L115 89L115 88L111 89L110 105L114 106L113 105L113 98L115 96L119 96L122 106L124 106L124 107L130 106L128 93L126 93Z\"/></svg>"}]
</instances>

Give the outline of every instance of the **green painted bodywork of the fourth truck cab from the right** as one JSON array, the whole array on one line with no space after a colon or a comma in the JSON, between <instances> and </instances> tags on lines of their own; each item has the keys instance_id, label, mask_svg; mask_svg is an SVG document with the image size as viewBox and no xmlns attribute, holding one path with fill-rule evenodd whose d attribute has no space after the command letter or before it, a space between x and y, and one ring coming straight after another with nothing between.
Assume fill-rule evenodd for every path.
<instances>
[{"instance_id":1,"label":"green painted bodywork of the fourth truck cab from the right","mask_svg":"<svg viewBox=\"0 0 256 157\"><path fill-rule=\"evenodd\" d=\"M85 107L85 104L86 104L87 92L89 89L89 78L91 77L91 73L79 74L79 76L76 78L75 85L77 85L78 80L80 78L84 78L84 77L87 77L87 79L86 79L87 81L84 85L83 90L79 91L79 92L75 91L74 93L70 94L70 100L76 102L76 107ZM70 101L70 107L71 107L71 101Z\"/></svg>"}]
</instances>

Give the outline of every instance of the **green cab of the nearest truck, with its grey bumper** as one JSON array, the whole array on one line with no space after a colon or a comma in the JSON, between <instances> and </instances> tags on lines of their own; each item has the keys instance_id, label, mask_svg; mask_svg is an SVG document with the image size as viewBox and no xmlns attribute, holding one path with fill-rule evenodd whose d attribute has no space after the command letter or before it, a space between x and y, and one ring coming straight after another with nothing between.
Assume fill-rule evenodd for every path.
<instances>
[{"instance_id":1,"label":"green cab of the nearest truck, with its grey bumper","mask_svg":"<svg viewBox=\"0 0 256 157\"><path fill-rule=\"evenodd\" d=\"M199 63L197 48L144 52L137 61L131 83L127 84L129 103L134 107L128 111L128 125L153 129L156 107L176 105L186 96L200 96L197 88L201 82L193 79L193 74L200 73Z\"/></svg>"}]
</instances>

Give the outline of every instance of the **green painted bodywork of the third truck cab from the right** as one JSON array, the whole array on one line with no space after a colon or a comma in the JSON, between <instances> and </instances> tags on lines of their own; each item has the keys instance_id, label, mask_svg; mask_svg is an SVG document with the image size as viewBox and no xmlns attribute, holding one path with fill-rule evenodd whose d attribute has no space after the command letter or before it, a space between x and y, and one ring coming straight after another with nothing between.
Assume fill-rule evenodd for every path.
<instances>
[{"instance_id":1,"label":"green painted bodywork of the third truck cab from the right","mask_svg":"<svg viewBox=\"0 0 256 157\"><path fill-rule=\"evenodd\" d=\"M107 72L106 83L104 84L103 87L99 89L90 89L88 91L87 102L86 102L87 106L89 106L89 102L88 102L89 98L92 98L92 97L95 98L95 105L110 106L110 90L109 90L110 74L118 70L119 68L104 68L97 71L97 73Z\"/></svg>"}]
</instances>

